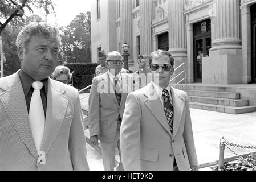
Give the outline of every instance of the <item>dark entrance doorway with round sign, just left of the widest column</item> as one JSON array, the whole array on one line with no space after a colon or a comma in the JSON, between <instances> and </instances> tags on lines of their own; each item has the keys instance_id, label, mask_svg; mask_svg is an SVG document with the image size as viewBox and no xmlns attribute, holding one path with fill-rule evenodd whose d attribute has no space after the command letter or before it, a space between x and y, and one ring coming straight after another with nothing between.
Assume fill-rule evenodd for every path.
<instances>
[{"instance_id":1,"label":"dark entrance doorway with round sign, just left of the widest column","mask_svg":"<svg viewBox=\"0 0 256 182\"><path fill-rule=\"evenodd\" d=\"M209 56L211 42L210 19L193 24L194 36L194 82L202 82L202 57Z\"/></svg>"}]
</instances>

